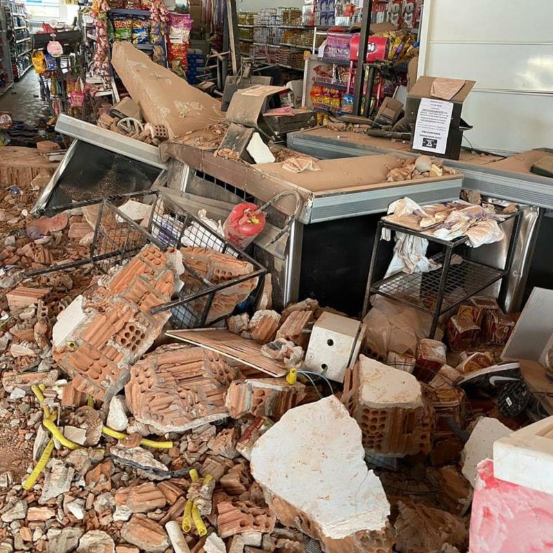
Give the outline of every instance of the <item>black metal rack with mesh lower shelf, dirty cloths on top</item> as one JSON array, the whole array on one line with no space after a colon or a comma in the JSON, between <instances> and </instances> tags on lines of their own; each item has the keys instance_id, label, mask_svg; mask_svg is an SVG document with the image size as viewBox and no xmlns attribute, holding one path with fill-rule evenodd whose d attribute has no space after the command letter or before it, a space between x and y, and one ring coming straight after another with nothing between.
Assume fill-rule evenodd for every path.
<instances>
[{"instance_id":1,"label":"black metal rack with mesh lower shelf, dirty cloths on top","mask_svg":"<svg viewBox=\"0 0 553 553\"><path fill-rule=\"evenodd\" d=\"M432 316L432 325L429 337L434 337L438 328L440 315L467 301L472 296L479 294L489 285L500 281L509 274L513 261L514 246L520 227L521 212L516 212L505 218L508 221L515 218L514 228L507 247L507 257L503 268L487 265L475 259L471 259L467 247L469 238L460 236L454 240L442 240L424 232L418 232L406 227L394 225L380 220L375 235L375 245L371 258L371 267L368 272L368 281L365 294L363 313L368 310L371 294L379 294L406 306L424 311ZM503 223L505 223L503 221ZM500 223L501 224L501 223ZM442 267L431 272L397 272L391 277L373 282L375 267L379 259L382 231L388 229L391 232L410 234L429 241L434 247L441 246L439 253L430 259L440 263ZM504 238L506 240L506 238ZM465 246L465 247L463 247ZM463 251L465 250L465 251ZM453 254L462 252L459 257L453 259Z\"/></svg>"}]
</instances>

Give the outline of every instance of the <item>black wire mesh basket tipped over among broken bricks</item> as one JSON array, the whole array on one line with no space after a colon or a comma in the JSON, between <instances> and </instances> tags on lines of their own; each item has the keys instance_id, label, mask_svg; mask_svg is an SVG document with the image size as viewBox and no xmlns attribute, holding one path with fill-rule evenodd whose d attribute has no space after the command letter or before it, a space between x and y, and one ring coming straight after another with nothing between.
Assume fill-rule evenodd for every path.
<instances>
[{"instance_id":1,"label":"black wire mesh basket tipped over among broken bricks","mask_svg":"<svg viewBox=\"0 0 553 553\"><path fill-rule=\"evenodd\" d=\"M129 216L120 209L128 200L136 200L142 210L150 208L140 216ZM263 279L260 277L266 272L262 265L234 247L218 234L217 229L158 191L134 192L71 207L76 205L97 209L90 256L53 265L28 276L86 263L92 263L105 273L129 261L148 243L168 254L179 250L182 266L178 268L180 281L174 299L151 310L153 315L171 310L173 328L200 328L212 324L231 315L238 304L256 297L261 290ZM175 257L178 258L176 254Z\"/></svg>"}]
</instances>

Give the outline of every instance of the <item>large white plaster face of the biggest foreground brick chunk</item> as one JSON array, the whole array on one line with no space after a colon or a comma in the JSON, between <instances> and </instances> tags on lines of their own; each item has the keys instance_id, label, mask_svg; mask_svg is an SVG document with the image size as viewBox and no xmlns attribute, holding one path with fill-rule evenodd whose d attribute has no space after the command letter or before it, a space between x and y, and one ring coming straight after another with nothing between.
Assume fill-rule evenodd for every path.
<instances>
[{"instance_id":1,"label":"large white plaster face of the biggest foreground brick chunk","mask_svg":"<svg viewBox=\"0 0 553 553\"><path fill-rule=\"evenodd\" d=\"M341 539L382 529L390 514L364 456L361 429L332 395L290 409L265 432L252 449L252 474L305 513L321 536Z\"/></svg>"}]
</instances>

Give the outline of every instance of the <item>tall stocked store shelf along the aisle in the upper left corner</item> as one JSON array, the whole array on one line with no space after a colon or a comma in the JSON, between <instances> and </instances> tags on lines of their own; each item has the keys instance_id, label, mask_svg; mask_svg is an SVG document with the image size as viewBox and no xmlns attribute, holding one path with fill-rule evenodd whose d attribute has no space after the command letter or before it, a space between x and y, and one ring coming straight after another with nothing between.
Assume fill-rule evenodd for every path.
<instances>
[{"instance_id":1,"label":"tall stocked store shelf along the aisle in the upper left corner","mask_svg":"<svg viewBox=\"0 0 553 553\"><path fill-rule=\"evenodd\" d=\"M32 37L28 27L28 13L24 3L15 1L3 3L3 12L10 44L12 75L15 81L19 81L32 67Z\"/></svg>"}]
</instances>

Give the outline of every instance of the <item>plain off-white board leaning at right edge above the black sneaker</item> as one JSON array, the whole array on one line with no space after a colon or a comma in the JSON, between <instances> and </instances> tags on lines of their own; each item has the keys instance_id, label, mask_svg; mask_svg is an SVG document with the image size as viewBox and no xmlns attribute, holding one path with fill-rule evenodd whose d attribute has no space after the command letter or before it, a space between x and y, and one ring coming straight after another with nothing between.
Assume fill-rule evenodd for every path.
<instances>
[{"instance_id":1,"label":"plain off-white board leaning at right edge above the black sneaker","mask_svg":"<svg viewBox=\"0 0 553 553\"><path fill-rule=\"evenodd\" d=\"M534 288L511 332L501 359L537 361L553 334L553 290Z\"/></svg>"}]
</instances>

